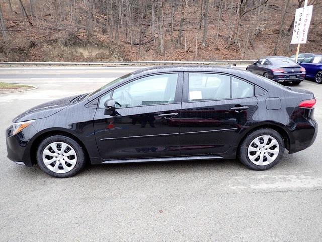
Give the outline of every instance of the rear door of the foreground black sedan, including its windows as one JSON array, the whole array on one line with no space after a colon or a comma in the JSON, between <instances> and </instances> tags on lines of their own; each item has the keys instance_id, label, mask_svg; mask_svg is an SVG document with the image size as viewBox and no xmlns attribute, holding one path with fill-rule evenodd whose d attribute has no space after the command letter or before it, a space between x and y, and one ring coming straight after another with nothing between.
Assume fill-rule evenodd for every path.
<instances>
[{"instance_id":1,"label":"rear door of the foreground black sedan, including its windows","mask_svg":"<svg viewBox=\"0 0 322 242\"><path fill-rule=\"evenodd\" d=\"M245 80L219 73L185 72L181 155L226 152L256 106L254 85Z\"/></svg>"}]
</instances>

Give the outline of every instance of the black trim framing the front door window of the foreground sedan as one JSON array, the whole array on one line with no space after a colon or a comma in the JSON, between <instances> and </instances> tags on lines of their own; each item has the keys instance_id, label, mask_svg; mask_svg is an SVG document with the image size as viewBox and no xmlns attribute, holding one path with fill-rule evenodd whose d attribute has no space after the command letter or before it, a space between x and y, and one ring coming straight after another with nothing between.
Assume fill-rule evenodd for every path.
<instances>
[{"instance_id":1,"label":"black trim framing the front door window of the foreground sedan","mask_svg":"<svg viewBox=\"0 0 322 242\"><path fill-rule=\"evenodd\" d=\"M97 109L105 109L105 108L101 108L100 107L100 102L101 102L101 98L103 96L105 96L106 94L108 93L111 93L110 97L113 97L113 92L115 89L117 88L120 88L126 84L129 84L131 82L134 82L136 80L139 80L139 79L142 79L142 78L145 78L145 77L150 77L150 76L157 76L157 75L165 75L165 74L178 74L178 77L177 77L177 85L176 85L176 90L175 90L175 100L174 102L172 103L160 103L160 104L150 104L150 105L141 105L141 106L131 106L131 107L116 107L116 109L123 109L123 108L132 108L132 107L148 107L148 106L159 106L159 105L169 105L169 104L178 104L178 103L181 103L182 101L182 82L183 82L183 72L178 72L178 71L174 71L174 72L158 72L158 73L151 73L151 74L147 74L147 75L143 75L143 76L140 76L140 77L136 77L136 78L133 78L125 83L122 83L120 85L118 85L117 87L114 87L108 91L106 91L105 93L101 94L98 98L98 105L97 105Z\"/></svg>"}]
</instances>

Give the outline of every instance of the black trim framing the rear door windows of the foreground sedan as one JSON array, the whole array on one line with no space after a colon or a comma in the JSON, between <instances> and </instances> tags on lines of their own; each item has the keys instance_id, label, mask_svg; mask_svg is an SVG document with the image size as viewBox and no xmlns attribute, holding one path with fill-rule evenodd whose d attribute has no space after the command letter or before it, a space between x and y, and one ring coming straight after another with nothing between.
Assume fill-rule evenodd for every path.
<instances>
[{"instance_id":1,"label":"black trim framing the rear door windows of the foreground sedan","mask_svg":"<svg viewBox=\"0 0 322 242\"><path fill-rule=\"evenodd\" d=\"M189 73L201 73L201 74L219 74L219 75L226 75L230 77L230 97L229 98L222 98L222 99L211 99L211 100L197 100L197 101L189 101ZM253 94L250 97L239 97L239 98L232 98L232 77L237 78L241 81L244 81L253 86ZM251 98L255 97L255 84L245 80L244 78L238 77L233 74L222 73L222 72L205 72L205 71L187 71L184 72L183 75L183 94L182 94L182 103L193 103L193 102L213 102L213 101L222 101L222 100L235 100L235 99L244 99L244 98Z\"/></svg>"}]
</instances>

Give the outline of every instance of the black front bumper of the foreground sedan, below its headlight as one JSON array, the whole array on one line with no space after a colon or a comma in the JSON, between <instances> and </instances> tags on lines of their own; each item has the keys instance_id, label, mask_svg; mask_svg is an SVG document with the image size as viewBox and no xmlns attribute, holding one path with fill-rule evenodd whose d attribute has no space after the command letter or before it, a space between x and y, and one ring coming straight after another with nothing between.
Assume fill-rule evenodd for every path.
<instances>
[{"instance_id":1,"label":"black front bumper of the foreground sedan, below its headlight","mask_svg":"<svg viewBox=\"0 0 322 242\"><path fill-rule=\"evenodd\" d=\"M6 146L7 157L19 165L32 166L30 157L30 139L33 137L37 130L29 125L19 133L13 135L13 127L10 126L6 129Z\"/></svg>"}]
</instances>

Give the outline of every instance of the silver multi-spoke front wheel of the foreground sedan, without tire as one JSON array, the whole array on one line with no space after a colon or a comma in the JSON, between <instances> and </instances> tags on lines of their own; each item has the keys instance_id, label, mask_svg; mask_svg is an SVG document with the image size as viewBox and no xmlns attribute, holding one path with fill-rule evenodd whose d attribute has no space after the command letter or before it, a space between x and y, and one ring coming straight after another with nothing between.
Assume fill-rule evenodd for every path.
<instances>
[{"instance_id":1,"label":"silver multi-spoke front wheel of the foreground sedan, without tire","mask_svg":"<svg viewBox=\"0 0 322 242\"><path fill-rule=\"evenodd\" d=\"M67 143L53 142L44 149L42 160L49 170L62 174L71 171L75 167L77 154Z\"/></svg>"}]
</instances>

